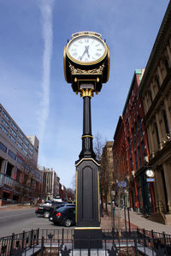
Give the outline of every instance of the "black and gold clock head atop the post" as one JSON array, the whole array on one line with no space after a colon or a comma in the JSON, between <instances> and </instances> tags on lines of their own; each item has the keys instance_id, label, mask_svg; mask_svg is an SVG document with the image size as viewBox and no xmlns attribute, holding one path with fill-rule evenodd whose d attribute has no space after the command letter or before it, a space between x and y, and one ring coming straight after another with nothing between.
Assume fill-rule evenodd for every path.
<instances>
[{"instance_id":1,"label":"black and gold clock head atop the post","mask_svg":"<svg viewBox=\"0 0 171 256\"><path fill-rule=\"evenodd\" d=\"M72 36L63 52L65 80L76 93L83 82L91 83L93 92L100 92L102 83L109 80L109 47L99 33L80 32Z\"/></svg>"}]
</instances>

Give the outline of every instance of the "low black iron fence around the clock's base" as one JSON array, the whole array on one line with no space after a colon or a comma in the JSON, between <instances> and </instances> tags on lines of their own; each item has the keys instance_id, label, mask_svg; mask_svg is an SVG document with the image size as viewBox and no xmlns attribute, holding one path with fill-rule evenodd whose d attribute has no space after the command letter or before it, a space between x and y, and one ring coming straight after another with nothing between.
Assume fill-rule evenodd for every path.
<instances>
[{"instance_id":1,"label":"low black iron fence around the clock's base","mask_svg":"<svg viewBox=\"0 0 171 256\"><path fill-rule=\"evenodd\" d=\"M86 247L79 247L80 244ZM76 245L76 246L75 246ZM102 239L74 240L74 229L36 229L0 239L0 255L171 255L171 235L153 230L103 230Z\"/></svg>"}]
</instances>

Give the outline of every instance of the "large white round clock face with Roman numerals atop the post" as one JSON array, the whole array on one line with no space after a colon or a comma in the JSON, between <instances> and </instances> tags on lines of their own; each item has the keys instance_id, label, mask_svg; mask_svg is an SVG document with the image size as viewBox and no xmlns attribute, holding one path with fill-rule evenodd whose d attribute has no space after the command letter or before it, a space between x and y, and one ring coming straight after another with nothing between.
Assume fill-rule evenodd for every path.
<instances>
[{"instance_id":1,"label":"large white round clock face with Roman numerals atop the post","mask_svg":"<svg viewBox=\"0 0 171 256\"><path fill-rule=\"evenodd\" d=\"M82 35L72 39L68 44L68 57L76 63L94 64L103 60L107 47L102 39L93 35Z\"/></svg>"}]
</instances>

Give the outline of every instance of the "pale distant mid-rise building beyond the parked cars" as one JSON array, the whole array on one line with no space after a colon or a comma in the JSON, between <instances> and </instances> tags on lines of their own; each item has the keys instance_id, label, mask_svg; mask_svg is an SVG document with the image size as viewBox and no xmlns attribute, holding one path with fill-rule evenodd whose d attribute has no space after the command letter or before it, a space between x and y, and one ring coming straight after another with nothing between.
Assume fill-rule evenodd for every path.
<instances>
[{"instance_id":1,"label":"pale distant mid-rise building beyond the parked cars","mask_svg":"<svg viewBox=\"0 0 171 256\"><path fill-rule=\"evenodd\" d=\"M52 168L39 167L43 171L42 193L44 199L54 199L59 196L60 178Z\"/></svg>"}]
</instances>

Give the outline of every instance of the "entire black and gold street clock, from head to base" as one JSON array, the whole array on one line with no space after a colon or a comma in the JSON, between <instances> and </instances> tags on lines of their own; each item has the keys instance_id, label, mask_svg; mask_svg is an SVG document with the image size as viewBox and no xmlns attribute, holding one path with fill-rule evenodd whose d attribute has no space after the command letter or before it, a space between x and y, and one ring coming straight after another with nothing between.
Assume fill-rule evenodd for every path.
<instances>
[{"instance_id":1,"label":"entire black and gold street clock, from head to base","mask_svg":"<svg viewBox=\"0 0 171 256\"><path fill-rule=\"evenodd\" d=\"M100 92L102 83L109 79L109 48L98 33L76 33L64 48L63 56L65 79L72 84L74 92L76 94L80 92L80 97L83 98L82 150L79 160L75 162L74 247L102 247L99 205L100 164L92 146L91 97L94 92Z\"/></svg>"}]
</instances>

